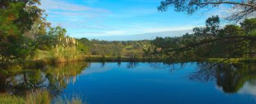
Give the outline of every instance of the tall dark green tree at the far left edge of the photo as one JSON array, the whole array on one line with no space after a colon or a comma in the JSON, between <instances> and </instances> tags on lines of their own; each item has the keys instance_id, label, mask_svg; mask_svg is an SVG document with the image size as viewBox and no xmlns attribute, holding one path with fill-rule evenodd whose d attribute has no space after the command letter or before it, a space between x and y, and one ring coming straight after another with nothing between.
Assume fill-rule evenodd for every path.
<instances>
[{"instance_id":1,"label":"tall dark green tree at the far left edge of the photo","mask_svg":"<svg viewBox=\"0 0 256 104\"><path fill-rule=\"evenodd\" d=\"M25 35L36 20L40 20L43 10L39 1L0 1L0 56L1 62L26 58L34 51L36 43Z\"/></svg>"}]
</instances>

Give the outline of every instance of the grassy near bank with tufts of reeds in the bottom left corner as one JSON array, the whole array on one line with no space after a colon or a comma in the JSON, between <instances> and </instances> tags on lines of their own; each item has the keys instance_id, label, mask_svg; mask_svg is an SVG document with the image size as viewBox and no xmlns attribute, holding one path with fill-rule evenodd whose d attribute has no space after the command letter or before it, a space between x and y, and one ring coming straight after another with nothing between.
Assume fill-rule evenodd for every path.
<instances>
[{"instance_id":1,"label":"grassy near bank with tufts of reeds in the bottom left corner","mask_svg":"<svg viewBox=\"0 0 256 104\"><path fill-rule=\"evenodd\" d=\"M71 98L70 100L57 98L52 100L51 95L46 90L36 90L26 93L25 96L15 96L11 94L0 94L0 103L12 103L12 104L50 104L50 103L67 103L67 104L80 104L83 103L81 98Z\"/></svg>"}]
</instances>

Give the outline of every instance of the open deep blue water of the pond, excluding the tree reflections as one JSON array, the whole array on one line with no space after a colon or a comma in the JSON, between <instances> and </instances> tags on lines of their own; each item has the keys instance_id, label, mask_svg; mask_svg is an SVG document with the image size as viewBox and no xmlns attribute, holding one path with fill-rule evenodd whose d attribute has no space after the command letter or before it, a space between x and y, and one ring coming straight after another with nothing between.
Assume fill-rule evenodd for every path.
<instances>
[{"instance_id":1,"label":"open deep blue water of the pond, excluding the tree reflections","mask_svg":"<svg viewBox=\"0 0 256 104\"><path fill-rule=\"evenodd\" d=\"M80 94L88 104L256 103L255 79L245 75L247 78L239 77L241 82L234 84L233 76L225 76L233 74L225 70L212 72L211 80L204 79L204 73L201 78L191 78L193 72L202 70L198 66L198 63L90 63L67 84L61 95Z\"/></svg>"}]
</instances>

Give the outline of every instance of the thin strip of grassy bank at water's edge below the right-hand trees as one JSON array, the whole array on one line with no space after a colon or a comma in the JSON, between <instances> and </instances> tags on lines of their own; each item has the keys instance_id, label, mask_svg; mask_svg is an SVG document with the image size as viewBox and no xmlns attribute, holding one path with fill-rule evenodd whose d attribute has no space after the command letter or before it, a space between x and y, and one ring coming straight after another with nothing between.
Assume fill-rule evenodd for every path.
<instances>
[{"instance_id":1,"label":"thin strip of grassy bank at water's edge below the right-hand trees","mask_svg":"<svg viewBox=\"0 0 256 104\"><path fill-rule=\"evenodd\" d=\"M225 60L225 58L208 58L208 62L221 62ZM225 60L224 62L232 62L232 63L248 63L248 62L256 62L256 58L230 58Z\"/></svg>"}]
</instances>

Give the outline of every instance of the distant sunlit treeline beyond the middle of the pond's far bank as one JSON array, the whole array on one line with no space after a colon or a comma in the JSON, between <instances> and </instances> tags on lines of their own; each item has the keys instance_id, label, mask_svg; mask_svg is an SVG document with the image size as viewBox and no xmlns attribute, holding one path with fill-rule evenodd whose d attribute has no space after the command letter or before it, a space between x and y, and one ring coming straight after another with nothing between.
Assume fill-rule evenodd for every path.
<instances>
[{"instance_id":1,"label":"distant sunlit treeline beyond the middle of the pond's far bank","mask_svg":"<svg viewBox=\"0 0 256 104\"><path fill-rule=\"evenodd\" d=\"M143 49L150 47L150 41L99 41L97 39L79 39L79 42L88 47L89 55L106 56L133 56L143 55Z\"/></svg>"}]
</instances>

